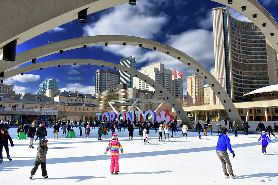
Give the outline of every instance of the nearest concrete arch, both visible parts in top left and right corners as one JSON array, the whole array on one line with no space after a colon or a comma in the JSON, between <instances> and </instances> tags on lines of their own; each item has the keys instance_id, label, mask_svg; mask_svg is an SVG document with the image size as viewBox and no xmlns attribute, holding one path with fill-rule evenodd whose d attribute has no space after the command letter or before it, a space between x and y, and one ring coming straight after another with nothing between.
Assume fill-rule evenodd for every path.
<instances>
[{"instance_id":1,"label":"nearest concrete arch, both visible parts in top left and right corners","mask_svg":"<svg viewBox=\"0 0 278 185\"><path fill-rule=\"evenodd\" d=\"M234 0L232 4L228 4L227 0L210 1L231 7L246 16L263 31L266 38L272 43L272 47L278 52L278 24L258 1ZM0 17L2 18L0 25L5 26L2 27L0 37L0 54L3 52L3 46L12 40L18 39L17 45L19 45L48 30L77 19L80 10L89 8L88 14L91 14L125 3L128 3L128 0L79 0L67 3L48 0L32 4L28 4L26 1L2 0L0 1ZM246 6L245 11L242 11L242 6ZM20 16L11 16L11 13L7 13L14 13L19 9ZM42 9L44 11L41 11ZM257 18L253 18L253 14L257 14ZM266 27L262 27L263 23L266 23ZM274 36L271 37L270 33L274 33Z\"/></svg>"}]
</instances>

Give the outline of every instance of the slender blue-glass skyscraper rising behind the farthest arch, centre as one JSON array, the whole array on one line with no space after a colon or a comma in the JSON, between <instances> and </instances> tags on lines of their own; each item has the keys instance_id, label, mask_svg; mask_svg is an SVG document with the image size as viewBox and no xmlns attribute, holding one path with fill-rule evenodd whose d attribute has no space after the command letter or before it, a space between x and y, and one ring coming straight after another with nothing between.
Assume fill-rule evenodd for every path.
<instances>
[{"instance_id":1,"label":"slender blue-glass skyscraper rising behind the farthest arch, centre","mask_svg":"<svg viewBox=\"0 0 278 185\"><path fill-rule=\"evenodd\" d=\"M134 55L121 59L120 64L136 70L136 60ZM126 72L120 71L120 84L127 84L128 88L133 88L133 76Z\"/></svg>"}]
</instances>

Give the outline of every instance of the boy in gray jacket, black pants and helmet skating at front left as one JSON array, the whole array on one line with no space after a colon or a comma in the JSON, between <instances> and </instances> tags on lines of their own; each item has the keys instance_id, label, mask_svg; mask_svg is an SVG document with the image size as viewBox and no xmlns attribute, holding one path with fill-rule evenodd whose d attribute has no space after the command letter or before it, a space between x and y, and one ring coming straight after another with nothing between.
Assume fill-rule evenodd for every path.
<instances>
[{"instance_id":1,"label":"boy in gray jacket, black pants and helmet skating at front left","mask_svg":"<svg viewBox=\"0 0 278 185\"><path fill-rule=\"evenodd\" d=\"M46 146L47 142L48 142L48 140L46 138L41 139L41 144L37 148L38 152L36 155L36 161L34 163L34 166L31 170L31 175L29 177L30 179L32 179L33 175L35 175L39 166L41 167L41 172L42 172L44 179L48 178L47 171L46 171L46 165L45 165L46 154L47 154L47 150L48 150L48 147Z\"/></svg>"}]
</instances>

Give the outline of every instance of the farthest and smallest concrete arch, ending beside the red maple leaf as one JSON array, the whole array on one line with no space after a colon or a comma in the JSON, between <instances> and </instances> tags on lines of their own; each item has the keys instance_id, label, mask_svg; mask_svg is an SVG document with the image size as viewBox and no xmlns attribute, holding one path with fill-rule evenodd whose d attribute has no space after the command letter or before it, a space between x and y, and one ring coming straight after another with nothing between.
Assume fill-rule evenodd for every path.
<instances>
[{"instance_id":1,"label":"farthest and smallest concrete arch, ending beside the red maple leaf","mask_svg":"<svg viewBox=\"0 0 278 185\"><path fill-rule=\"evenodd\" d=\"M179 114L179 117L182 121L186 121L188 125L194 129L194 126L192 125L189 117L187 116L186 112L183 110L182 106L179 104L179 102L169 93L166 91L165 88L163 88L160 84L158 84L156 81L151 79L150 77L144 75L141 72L138 72L132 68L128 68L124 65L117 64L114 62L108 62L104 60L93 60L93 59L61 59L61 60L51 60L47 62L40 62L32 65L26 65L20 68L15 68L10 71L6 72L5 78L9 78L15 75L18 75L22 72L30 72L34 71L40 68L49 68L54 67L57 65L73 65L73 64L83 64L83 65L97 65L97 66L103 66L113 69L118 69L121 71L125 71L126 73L132 74L133 76L136 76L137 78L145 81L147 84L151 85L155 88L157 92L160 92L165 99L172 105L172 107L175 109L175 111Z\"/></svg>"}]
</instances>

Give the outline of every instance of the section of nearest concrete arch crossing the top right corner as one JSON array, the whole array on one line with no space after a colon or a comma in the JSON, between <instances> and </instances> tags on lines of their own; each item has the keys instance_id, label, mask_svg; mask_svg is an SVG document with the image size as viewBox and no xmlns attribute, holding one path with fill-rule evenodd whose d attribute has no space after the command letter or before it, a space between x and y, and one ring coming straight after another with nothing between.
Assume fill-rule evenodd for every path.
<instances>
[{"instance_id":1,"label":"section of nearest concrete arch crossing the top right corner","mask_svg":"<svg viewBox=\"0 0 278 185\"><path fill-rule=\"evenodd\" d=\"M257 0L233 0L232 4L228 4L228 0L210 1L228 6L250 19L264 33L278 53L278 24ZM246 6L245 10L242 9L244 6ZM265 26L263 26L264 23ZM271 33L273 33L273 36L271 36Z\"/></svg>"}]
</instances>

